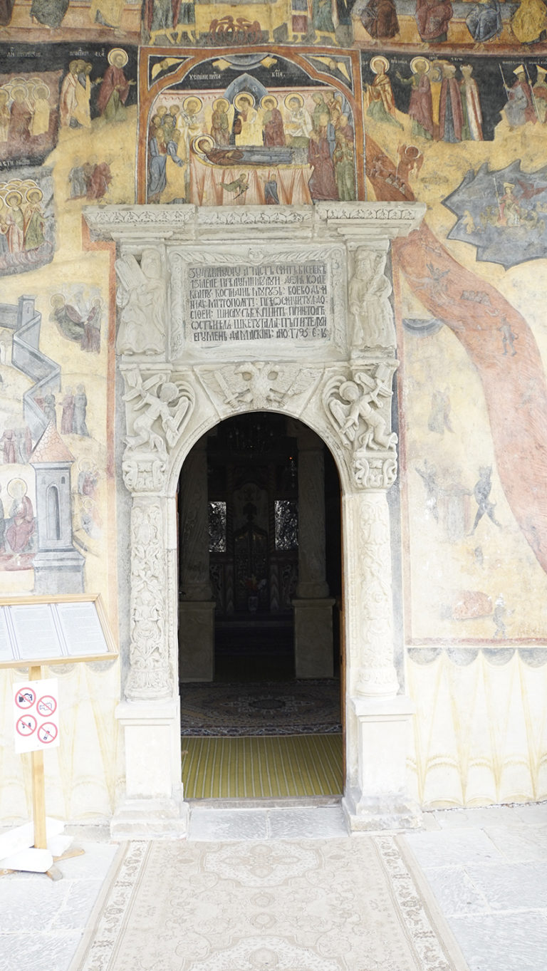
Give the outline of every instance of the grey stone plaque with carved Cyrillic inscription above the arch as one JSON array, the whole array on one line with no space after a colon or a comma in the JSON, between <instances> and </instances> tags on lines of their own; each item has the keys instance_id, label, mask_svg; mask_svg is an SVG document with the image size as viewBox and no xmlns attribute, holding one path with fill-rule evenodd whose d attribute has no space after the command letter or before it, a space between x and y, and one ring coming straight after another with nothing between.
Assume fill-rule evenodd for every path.
<instances>
[{"instance_id":1,"label":"grey stone plaque with carved Cyrillic inscription above the arch","mask_svg":"<svg viewBox=\"0 0 547 971\"><path fill-rule=\"evenodd\" d=\"M188 266L188 338L199 347L328 335L327 266Z\"/></svg>"}]
</instances>

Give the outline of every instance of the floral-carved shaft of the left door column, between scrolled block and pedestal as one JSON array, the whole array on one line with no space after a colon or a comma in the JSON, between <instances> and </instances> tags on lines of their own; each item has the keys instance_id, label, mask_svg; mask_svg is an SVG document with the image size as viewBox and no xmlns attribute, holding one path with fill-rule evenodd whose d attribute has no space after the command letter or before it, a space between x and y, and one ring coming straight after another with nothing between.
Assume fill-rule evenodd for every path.
<instances>
[{"instance_id":1,"label":"floral-carved shaft of the left door column, between scrolled block and pedestal","mask_svg":"<svg viewBox=\"0 0 547 971\"><path fill-rule=\"evenodd\" d=\"M165 638L165 543L157 502L133 501L131 510L130 672L128 699L171 692Z\"/></svg>"}]
</instances>

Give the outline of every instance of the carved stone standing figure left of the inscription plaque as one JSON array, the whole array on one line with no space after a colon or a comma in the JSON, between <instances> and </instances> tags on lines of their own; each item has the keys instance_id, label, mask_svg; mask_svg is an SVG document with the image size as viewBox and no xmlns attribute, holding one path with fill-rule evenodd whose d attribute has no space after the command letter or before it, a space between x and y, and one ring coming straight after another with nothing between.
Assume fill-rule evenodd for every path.
<instances>
[{"instance_id":1,"label":"carved stone standing figure left of the inscription plaque","mask_svg":"<svg viewBox=\"0 0 547 971\"><path fill-rule=\"evenodd\" d=\"M165 286L157 250L132 253L116 261L121 284L121 319L116 350L120 354L161 353L165 340Z\"/></svg>"}]
</instances>

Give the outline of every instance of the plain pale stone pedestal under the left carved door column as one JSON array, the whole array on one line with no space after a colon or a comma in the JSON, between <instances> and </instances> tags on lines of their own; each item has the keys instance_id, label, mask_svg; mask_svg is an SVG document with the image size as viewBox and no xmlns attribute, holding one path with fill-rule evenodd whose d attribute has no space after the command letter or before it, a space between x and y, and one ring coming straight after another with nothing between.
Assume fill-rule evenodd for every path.
<instances>
[{"instance_id":1,"label":"plain pale stone pedestal under the left carved door column","mask_svg":"<svg viewBox=\"0 0 547 971\"><path fill-rule=\"evenodd\" d=\"M116 839L185 836L188 803L181 782L181 719L178 699L121 702L125 793L111 822Z\"/></svg>"}]
</instances>

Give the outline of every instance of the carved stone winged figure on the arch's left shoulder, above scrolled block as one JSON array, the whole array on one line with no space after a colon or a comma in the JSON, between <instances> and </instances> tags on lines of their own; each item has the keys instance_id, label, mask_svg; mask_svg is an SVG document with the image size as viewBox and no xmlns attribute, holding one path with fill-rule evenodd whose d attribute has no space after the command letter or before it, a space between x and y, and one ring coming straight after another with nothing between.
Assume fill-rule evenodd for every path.
<instances>
[{"instance_id":1,"label":"carved stone winged figure on the arch's left shoulder, above scrolled block","mask_svg":"<svg viewBox=\"0 0 547 971\"><path fill-rule=\"evenodd\" d=\"M134 401L133 411L145 409L133 420L133 435L127 435L125 442L131 450L148 448L151 452L158 452L166 457L165 440L169 448L175 445L190 406L190 398L184 394L178 385L170 381L163 381L161 375L153 375L143 381L138 368L127 375L129 390L123 395L123 401ZM175 404L177 402L178 403ZM165 439L154 431L154 425L159 420Z\"/></svg>"}]
</instances>

